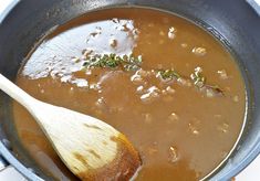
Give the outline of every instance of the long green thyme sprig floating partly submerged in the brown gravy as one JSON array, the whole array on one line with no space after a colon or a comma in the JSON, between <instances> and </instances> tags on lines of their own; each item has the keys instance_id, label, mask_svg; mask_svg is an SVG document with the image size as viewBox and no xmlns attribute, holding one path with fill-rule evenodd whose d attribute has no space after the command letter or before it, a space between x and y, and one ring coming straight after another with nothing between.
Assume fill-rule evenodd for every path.
<instances>
[{"instance_id":1,"label":"long green thyme sprig floating partly submerged in the brown gravy","mask_svg":"<svg viewBox=\"0 0 260 181\"><path fill-rule=\"evenodd\" d=\"M105 68L122 68L123 71L138 71L142 67L142 56L131 55L116 55L114 53L111 54L95 54L92 56L87 56L83 66L85 68L94 68L94 67L105 67ZM194 73L190 74L190 77L185 77L180 75L175 70L157 70L157 75L165 81L186 81L191 82L196 87L201 91L210 92L212 94L223 95L223 91L217 85L206 84L206 77L202 75L201 67L196 67Z\"/></svg>"}]
</instances>

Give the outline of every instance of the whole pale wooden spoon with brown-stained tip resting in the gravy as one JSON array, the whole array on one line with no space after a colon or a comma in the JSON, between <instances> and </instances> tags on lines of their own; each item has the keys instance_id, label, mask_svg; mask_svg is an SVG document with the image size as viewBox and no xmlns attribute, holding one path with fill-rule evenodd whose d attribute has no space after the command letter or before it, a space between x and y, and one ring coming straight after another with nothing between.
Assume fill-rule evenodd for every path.
<instances>
[{"instance_id":1,"label":"whole pale wooden spoon with brown-stained tip resting in the gravy","mask_svg":"<svg viewBox=\"0 0 260 181\"><path fill-rule=\"evenodd\" d=\"M141 158L112 126L63 107L40 102L0 74L0 89L35 118L65 166L82 180L128 180Z\"/></svg>"}]
</instances>

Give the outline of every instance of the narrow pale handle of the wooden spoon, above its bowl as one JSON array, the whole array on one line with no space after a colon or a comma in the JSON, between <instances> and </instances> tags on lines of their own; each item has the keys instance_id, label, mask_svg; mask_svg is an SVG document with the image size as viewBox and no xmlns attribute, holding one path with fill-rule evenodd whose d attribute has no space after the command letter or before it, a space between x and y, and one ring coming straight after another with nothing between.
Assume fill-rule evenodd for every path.
<instances>
[{"instance_id":1,"label":"narrow pale handle of the wooden spoon, above its bowl","mask_svg":"<svg viewBox=\"0 0 260 181\"><path fill-rule=\"evenodd\" d=\"M33 97L31 97L24 91L19 88L11 81L6 78L2 74L0 74L0 89L2 89L4 93L7 93L9 96L11 96L24 107L30 107L29 105L31 105L31 103L35 100Z\"/></svg>"}]
</instances>

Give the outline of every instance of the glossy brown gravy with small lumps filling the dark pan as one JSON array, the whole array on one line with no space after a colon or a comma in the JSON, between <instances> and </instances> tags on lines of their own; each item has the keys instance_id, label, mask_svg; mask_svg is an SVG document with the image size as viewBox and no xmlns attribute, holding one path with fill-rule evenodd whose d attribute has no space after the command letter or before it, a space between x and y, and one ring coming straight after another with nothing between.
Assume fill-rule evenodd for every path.
<instances>
[{"instance_id":1,"label":"glossy brown gravy with small lumps filling the dark pan","mask_svg":"<svg viewBox=\"0 0 260 181\"><path fill-rule=\"evenodd\" d=\"M142 68L83 66L89 55L110 53L141 55ZM163 79L156 71L171 68L181 78ZM194 85L196 68L223 94ZM245 85L231 55L195 24L155 10L102 10L60 26L28 56L17 84L126 135L143 160L136 180L204 178L229 153L245 117ZM44 172L76 180L30 114L13 103L13 115L24 148Z\"/></svg>"}]
</instances>

